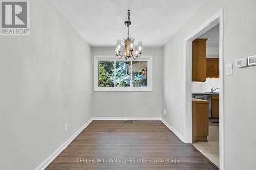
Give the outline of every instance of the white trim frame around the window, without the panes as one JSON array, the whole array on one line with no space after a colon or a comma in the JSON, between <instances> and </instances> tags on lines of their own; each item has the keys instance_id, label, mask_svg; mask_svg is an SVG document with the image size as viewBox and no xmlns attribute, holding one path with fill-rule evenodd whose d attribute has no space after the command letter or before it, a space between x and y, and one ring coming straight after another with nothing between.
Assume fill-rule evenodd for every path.
<instances>
[{"instance_id":1,"label":"white trim frame around the window, without the panes","mask_svg":"<svg viewBox=\"0 0 256 170\"><path fill-rule=\"evenodd\" d=\"M99 74L99 61L132 61L132 59L117 59L116 56L94 56L93 58L93 84L94 91L153 91L152 88L152 77L153 77L153 64L152 56L141 56L136 61L147 61L147 87L98 87L98 74Z\"/></svg>"}]
</instances>

